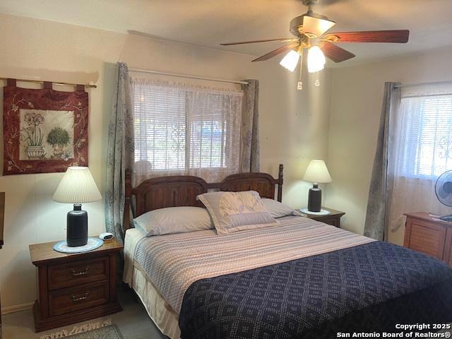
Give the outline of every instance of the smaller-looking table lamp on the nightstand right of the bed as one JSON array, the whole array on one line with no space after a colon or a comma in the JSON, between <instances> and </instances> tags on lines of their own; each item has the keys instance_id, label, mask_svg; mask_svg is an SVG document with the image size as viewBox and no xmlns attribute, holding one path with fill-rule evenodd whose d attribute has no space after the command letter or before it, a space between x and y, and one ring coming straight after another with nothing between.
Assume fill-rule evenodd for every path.
<instances>
[{"instance_id":1,"label":"smaller-looking table lamp on the nightstand right of the bed","mask_svg":"<svg viewBox=\"0 0 452 339\"><path fill-rule=\"evenodd\" d=\"M309 189L308 196L308 208L304 209L304 213L316 213L316 214L328 214L321 213L322 209L322 190L319 188L319 184L331 182L330 174L326 168L325 162L323 160L311 160L309 162L308 168L304 173L303 180L305 182L312 182L313 186Z\"/></svg>"}]
</instances>

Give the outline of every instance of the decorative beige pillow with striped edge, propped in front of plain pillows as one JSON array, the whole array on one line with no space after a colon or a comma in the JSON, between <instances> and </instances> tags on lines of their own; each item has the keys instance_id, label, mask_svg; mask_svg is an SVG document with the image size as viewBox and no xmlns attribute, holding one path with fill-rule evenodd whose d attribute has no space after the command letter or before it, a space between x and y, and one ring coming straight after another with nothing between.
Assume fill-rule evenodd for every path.
<instances>
[{"instance_id":1,"label":"decorative beige pillow with striped edge, propped in front of plain pillows","mask_svg":"<svg viewBox=\"0 0 452 339\"><path fill-rule=\"evenodd\" d=\"M256 191L209 192L198 199L206 206L218 234L279 225Z\"/></svg>"}]
</instances>

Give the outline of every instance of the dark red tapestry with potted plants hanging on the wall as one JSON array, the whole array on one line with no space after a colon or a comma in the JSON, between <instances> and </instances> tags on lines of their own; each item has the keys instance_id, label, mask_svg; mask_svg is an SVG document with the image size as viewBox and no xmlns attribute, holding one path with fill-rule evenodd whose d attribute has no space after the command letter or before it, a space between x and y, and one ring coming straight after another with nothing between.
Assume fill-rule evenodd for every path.
<instances>
[{"instance_id":1,"label":"dark red tapestry with potted plants hanging on the wall","mask_svg":"<svg viewBox=\"0 0 452 339\"><path fill-rule=\"evenodd\" d=\"M88 166L88 93L4 88L3 174L65 172Z\"/></svg>"}]
</instances>

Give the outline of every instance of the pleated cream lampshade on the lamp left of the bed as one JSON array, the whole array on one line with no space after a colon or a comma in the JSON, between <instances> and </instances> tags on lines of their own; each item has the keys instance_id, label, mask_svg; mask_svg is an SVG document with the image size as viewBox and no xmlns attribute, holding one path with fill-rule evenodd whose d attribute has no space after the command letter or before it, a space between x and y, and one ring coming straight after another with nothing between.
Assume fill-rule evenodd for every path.
<instances>
[{"instance_id":1,"label":"pleated cream lampshade on the lamp left of the bed","mask_svg":"<svg viewBox=\"0 0 452 339\"><path fill-rule=\"evenodd\" d=\"M102 200L88 167L68 167L53 196L59 203L90 203Z\"/></svg>"}]
</instances>

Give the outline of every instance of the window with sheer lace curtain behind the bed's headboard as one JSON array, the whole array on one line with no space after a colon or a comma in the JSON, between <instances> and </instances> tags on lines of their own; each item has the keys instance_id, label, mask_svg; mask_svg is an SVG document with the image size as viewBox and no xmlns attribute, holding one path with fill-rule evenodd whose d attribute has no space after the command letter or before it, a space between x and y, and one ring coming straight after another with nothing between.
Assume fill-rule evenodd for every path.
<instances>
[{"instance_id":1,"label":"window with sheer lace curtain behind the bed's headboard","mask_svg":"<svg viewBox=\"0 0 452 339\"><path fill-rule=\"evenodd\" d=\"M238 172L241 91L144 79L132 85L138 174L217 180Z\"/></svg>"}]
</instances>

